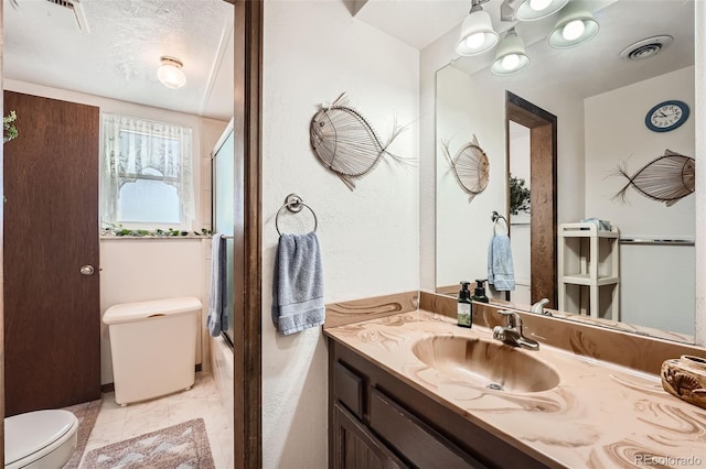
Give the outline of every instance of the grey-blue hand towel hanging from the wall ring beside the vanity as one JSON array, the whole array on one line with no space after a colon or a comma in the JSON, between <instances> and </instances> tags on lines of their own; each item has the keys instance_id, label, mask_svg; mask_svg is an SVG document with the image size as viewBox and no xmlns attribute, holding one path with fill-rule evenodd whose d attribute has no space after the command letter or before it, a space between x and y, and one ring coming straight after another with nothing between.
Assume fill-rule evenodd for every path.
<instances>
[{"instance_id":1,"label":"grey-blue hand towel hanging from the wall ring beside the vanity","mask_svg":"<svg viewBox=\"0 0 706 469\"><path fill-rule=\"evenodd\" d=\"M281 234L275 259L272 321L281 334L289 335L321 326L324 316L317 234Z\"/></svg>"}]
</instances>

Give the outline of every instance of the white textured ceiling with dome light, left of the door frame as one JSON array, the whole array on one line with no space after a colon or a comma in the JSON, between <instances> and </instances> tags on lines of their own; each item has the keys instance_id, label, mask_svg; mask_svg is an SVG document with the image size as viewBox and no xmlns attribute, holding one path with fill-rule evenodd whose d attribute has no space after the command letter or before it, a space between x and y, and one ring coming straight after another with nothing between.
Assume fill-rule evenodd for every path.
<instances>
[{"instance_id":1,"label":"white textured ceiling with dome light, left of the door frame","mask_svg":"<svg viewBox=\"0 0 706 469\"><path fill-rule=\"evenodd\" d=\"M221 120L233 116L232 4L82 0L88 24L82 31L46 0L3 1L6 78ZM183 62L183 88L158 81L162 55Z\"/></svg>"}]
</instances>

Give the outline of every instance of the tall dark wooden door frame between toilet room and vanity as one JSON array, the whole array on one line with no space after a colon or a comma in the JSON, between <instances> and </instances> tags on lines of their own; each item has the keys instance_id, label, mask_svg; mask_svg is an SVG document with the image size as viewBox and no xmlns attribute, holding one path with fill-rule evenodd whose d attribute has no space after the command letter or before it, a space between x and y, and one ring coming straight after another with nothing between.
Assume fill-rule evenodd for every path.
<instances>
[{"instance_id":1,"label":"tall dark wooden door frame between toilet room and vanity","mask_svg":"<svg viewBox=\"0 0 706 469\"><path fill-rule=\"evenodd\" d=\"M234 350L243 351L234 361L234 467L263 466L261 429L261 68L263 68L263 0L226 0L235 14L234 134L236 138L236 184L243 198L236 204L236 240L242 249L235 252L236 293L243 307L234 314ZM0 3L0 32L2 31ZM2 35L0 35L0 44ZM0 47L0 78L2 76ZM0 105L2 98L0 97ZM0 148L0 188L2 187L3 153ZM237 187L237 186L236 186ZM0 385L4 389L4 340L2 302L2 227L0 205ZM4 392L0 393L0 467L4 467Z\"/></svg>"}]
</instances>

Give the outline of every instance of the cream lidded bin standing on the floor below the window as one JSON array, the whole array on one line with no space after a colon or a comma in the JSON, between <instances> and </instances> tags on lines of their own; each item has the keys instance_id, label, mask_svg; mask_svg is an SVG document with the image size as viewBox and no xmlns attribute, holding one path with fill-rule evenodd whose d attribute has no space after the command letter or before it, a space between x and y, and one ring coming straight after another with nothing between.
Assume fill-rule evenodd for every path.
<instances>
[{"instance_id":1,"label":"cream lidded bin standing on the floor below the window","mask_svg":"<svg viewBox=\"0 0 706 469\"><path fill-rule=\"evenodd\" d=\"M199 298L184 296L106 310L118 404L191 389L201 308Z\"/></svg>"}]
</instances>

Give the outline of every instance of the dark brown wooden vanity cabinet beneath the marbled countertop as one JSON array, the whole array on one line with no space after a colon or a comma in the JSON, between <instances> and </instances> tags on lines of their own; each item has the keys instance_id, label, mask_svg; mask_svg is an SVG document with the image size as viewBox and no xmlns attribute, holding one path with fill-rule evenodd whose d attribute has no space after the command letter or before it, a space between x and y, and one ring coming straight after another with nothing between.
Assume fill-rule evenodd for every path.
<instances>
[{"instance_id":1,"label":"dark brown wooden vanity cabinet beneath the marbled countertop","mask_svg":"<svg viewBox=\"0 0 706 469\"><path fill-rule=\"evenodd\" d=\"M331 469L546 467L331 338L329 422Z\"/></svg>"}]
</instances>

